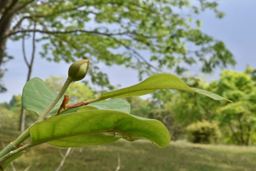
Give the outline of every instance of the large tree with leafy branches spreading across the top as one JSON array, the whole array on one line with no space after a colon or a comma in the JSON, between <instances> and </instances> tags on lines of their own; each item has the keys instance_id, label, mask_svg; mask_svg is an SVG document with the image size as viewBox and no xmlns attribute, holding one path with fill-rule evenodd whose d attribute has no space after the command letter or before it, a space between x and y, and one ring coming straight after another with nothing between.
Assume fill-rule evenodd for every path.
<instances>
[{"instance_id":1,"label":"large tree with leafy branches spreading across the top","mask_svg":"<svg viewBox=\"0 0 256 171\"><path fill-rule=\"evenodd\" d=\"M186 69L181 63L202 62L202 71L211 72L234 65L233 56L222 41L202 33L200 21L192 18L206 9L221 18L217 6L217 1L207 0L1 0L0 67L7 58L8 39L36 32L42 57L56 62L88 58L93 83L109 88L99 62L137 69L140 78L169 69L181 73ZM144 52L150 55L141 55Z\"/></svg>"}]
</instances>

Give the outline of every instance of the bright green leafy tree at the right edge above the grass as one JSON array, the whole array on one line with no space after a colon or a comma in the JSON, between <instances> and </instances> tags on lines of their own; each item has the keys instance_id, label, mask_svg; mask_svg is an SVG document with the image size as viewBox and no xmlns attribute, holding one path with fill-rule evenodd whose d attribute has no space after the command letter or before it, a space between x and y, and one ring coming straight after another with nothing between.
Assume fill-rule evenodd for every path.
<instances>
[{"instance_id":1,"label":"bright green leafy tree at the right edge above the grass","mask_svg":"<svg viewBox=\"0 0 256 171\"><path fill-rule=\"evenodd\" d=\"M223 106L218 120L228 127L228 141L249 145L255 143L256 131L256 81L255 69L247 67L245 72L223 71L218 81L212 82L212 90L225 95L233 103Z\"/></svg>"}]
</instances>

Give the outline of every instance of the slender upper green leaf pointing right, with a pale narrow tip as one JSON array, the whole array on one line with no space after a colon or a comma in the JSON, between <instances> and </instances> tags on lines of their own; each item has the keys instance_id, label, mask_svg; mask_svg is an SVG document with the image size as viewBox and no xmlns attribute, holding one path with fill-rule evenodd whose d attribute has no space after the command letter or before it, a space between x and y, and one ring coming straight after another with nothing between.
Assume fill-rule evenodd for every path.
<instances>
[{"instance_id":1,"label":"slender upper green leaf pointing right, with a pale narrow tip","mask_svg":"<svg viewBox=\"0 0 256 171\"><path fill-rule=\"evenodd\" d=\"M189 92L199 93L208 96L215 100L226 100L230 101L224 97L217 94L207 92L201 89L190 88L185 82L183 82L179 77L173 74L156 74L148 77L144 81L127 88L120 90L115 90L111 92L102 93L100 99L106 99L111 97L131 97L131 96L142 96L145 94L150 94L157 89L176 89ZM232 102L232 101L230 101Z\"/></svg>"}]
</instances>

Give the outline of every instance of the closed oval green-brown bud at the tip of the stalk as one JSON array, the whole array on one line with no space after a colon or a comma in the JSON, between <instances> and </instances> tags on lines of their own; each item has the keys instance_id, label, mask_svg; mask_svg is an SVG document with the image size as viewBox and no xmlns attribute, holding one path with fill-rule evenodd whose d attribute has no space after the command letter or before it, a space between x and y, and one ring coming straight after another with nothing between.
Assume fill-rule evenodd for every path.
<instances>
[{"instance_id":1,"label":"closed oval green-brown bud at the tip of the stalk","mask_svg":"<svg viewBox=\"0 0 256 171\"><path fill-rule=\"evenodd\" d=\"M89 68L89 60L78 60L69 67L69 79L72 81L79 81L83 79Z\"/></svg>"}]
</instances>

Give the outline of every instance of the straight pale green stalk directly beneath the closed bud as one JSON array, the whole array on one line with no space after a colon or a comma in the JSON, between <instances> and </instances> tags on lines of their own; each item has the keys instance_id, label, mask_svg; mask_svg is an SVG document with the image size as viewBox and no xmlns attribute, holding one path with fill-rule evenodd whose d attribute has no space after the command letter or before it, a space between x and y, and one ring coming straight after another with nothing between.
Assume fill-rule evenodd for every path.
<instances>
[{"instance_id":1,"label":"straight pale green stalk directly beneath the closed bud","mask_svg":"<svg viewBox=\"0 0 256 171\"><path fill-rule=\"evenodd\" d=\"M55 99L47 106L44 112L41 113L41 115L38 117L37 121L44 120L46 115L53 109L55 104L59 101L59 99L64 95L66 90L68 89L69 85L71 84L71 80L67 78L66 82L64 83L62 89L58 93L58 95L55 97Z\"/></svg>"}]
</instances>

